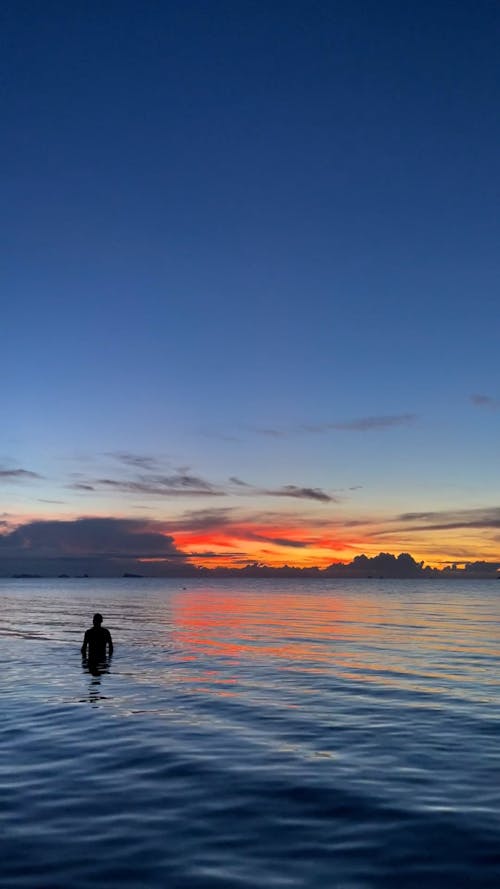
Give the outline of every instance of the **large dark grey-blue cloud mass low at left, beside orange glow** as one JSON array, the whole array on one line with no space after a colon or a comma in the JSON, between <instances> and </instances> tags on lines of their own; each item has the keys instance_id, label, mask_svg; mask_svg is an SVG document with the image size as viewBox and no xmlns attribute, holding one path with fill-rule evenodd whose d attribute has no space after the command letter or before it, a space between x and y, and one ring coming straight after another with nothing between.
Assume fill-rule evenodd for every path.
<instances>
[{"instance_id":1,"label":"large dark grey-blue cloud mass low at left, beside orange glow","mask_svg":"<svg viewBox=\"0 0 500 889\"><path fill-rule=\"evenodd\" d=\"M171 535L145 519L79 518L27 522L0 534L0 567L10 572L70 568L111 575L136 569L140 559L185 561ZM29 568L27 566L30 566Z\"/></svg>"}]
</instances>

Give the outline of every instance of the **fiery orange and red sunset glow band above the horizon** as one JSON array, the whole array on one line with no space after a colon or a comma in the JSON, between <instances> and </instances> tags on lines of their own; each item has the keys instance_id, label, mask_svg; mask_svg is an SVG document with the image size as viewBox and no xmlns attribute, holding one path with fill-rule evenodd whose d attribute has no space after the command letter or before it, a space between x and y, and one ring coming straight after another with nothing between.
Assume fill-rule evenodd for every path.
<instances>
[{"instance_id":1,"label":"fiery orange and red sunset glow band above the horizon","mask_svg":"<svg viewBox=\"0 0 500 889\"><path fill-rule=\"evenodd\" d=\"M329 523L320 512L314 514L312 510L309 514L304 511L252 515L228 508L181 512L177 517L134 517L127 514L113 516L109 510L103 509L86 517L65 512L64 508L47 506L46 512L12 510L4 516L0 529L3 537L37 522L60 522L64 526L102 518L109 522L129 523L130 530L127 527L119 529L123 533L122 552L126 557L128 548L131 553L142 551L144 556L137 556L139 563L171 563L177 558L179 565L188 561L204 568L242 568L249 563L258 563L270 568L289 566L321 570L336 563L349 564L362 554L373 558L381 552L395 556L409 553L417 563L423 561L426 566L438 569L452 564L463 567L465 563L475 561L500 563L498 530L494 525L482 527L465 521L450 526L443 521L441 527L436 523L434 527L426 528L418 514L413 523L389 514L346 517L344 525L339 516L332 517ZM193 527L190 527L191 518ZM57 529L54 534L57 543ZM73 530L69 537L65 534L62 527L64 553L84 555L77 547ZM151 550L149 543L142 543L142 540L147 541L148 534L162 534L166 545L155 543ZM84 536L81 546L89 545L93 546L93 540L88 542ZM98 556L99 551L95 554ZM89 555L92 555L91 551Z\"/></svg>"}]
</instances>

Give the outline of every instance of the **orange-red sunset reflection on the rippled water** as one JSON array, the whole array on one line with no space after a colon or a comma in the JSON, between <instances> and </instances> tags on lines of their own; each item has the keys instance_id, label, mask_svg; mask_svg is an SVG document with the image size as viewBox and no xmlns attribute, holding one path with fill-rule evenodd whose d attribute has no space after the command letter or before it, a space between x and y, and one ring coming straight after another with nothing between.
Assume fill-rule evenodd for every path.
<instances>
[{"instance_id":1,"label":"orange-red sunset reflection on the rippled water","mask_svg":"<svg viewBox=\"0 0 500 889\"><path fill-rule=\"evenodd\" d=\"M488 622L471 627L468 608L411 596L197 589L170 600L172 641L189 657L278 659L285 670L334 669L356 682L441 690L468 681L467 657L493 654Z\"/></svg>"}]
</instances>

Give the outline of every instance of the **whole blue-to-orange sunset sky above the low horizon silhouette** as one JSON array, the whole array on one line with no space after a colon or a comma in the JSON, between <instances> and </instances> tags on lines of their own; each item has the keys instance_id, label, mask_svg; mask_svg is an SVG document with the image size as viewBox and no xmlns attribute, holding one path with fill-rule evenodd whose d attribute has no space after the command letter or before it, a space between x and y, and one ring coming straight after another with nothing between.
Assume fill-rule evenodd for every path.
<instances>
[{"instance_id":1,"label":"whole blue-to-orange sunset sky above the low horizon silhouette","mask_svg":"<svg viewBox=\"0 0 500 889\"><path fill-rule=\"evenodd\" d=\"M500 559L499 26L2 4L0 567Z\"/></svg>"}]
</instances>

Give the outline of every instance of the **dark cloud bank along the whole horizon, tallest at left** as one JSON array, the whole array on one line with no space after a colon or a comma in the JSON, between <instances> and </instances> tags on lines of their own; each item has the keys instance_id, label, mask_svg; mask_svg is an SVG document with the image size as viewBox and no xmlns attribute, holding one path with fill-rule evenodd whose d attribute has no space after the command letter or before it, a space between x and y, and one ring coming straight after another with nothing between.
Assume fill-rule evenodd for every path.
<instances>
[{"instance_id":1,"label":"dark cloud bank along the whole horizon, tallest at left","mask_svg":"<svg viewBox=\"0 0 500 889\"><path fill-rule=\"evenodd\" d=\"M276 543L290 541L276 538ZM293 543L293 542L292 542ZM295 544L294 544L295 545ZM198 554L207 558L209 554ZM215 554L212 554L215 556ZM242 553L234 554L241 564ZM152 561L141 561L142 559ZM348 564L319 568L270 568L249 563L243 568L199 568L196 554L179 550L159 523L148 520L80 518L73 521L28 522L0 534L0 576L59 575L119 577L141 574L156 577L435 577L496 575L500 562L473 562L463 571L438 571L416 562L408 553L356 556Z\"/></svg>"}]
</instances>

